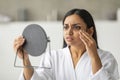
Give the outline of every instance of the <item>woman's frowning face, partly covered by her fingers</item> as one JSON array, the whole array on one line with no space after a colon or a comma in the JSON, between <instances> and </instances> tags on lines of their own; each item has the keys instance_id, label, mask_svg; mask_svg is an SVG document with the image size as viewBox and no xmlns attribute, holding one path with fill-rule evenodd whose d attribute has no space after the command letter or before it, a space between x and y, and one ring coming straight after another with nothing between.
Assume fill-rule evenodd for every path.
<instances>
[{"instance_id":1,"label":"woman's frowning face, partly covered by her fingers","mask_svg":"<svg viewBox=\"0 0 120 80\"><path fill-rule=\"evenodd\" d=\"M85 22L80 18L78 15L73 14L66 17L64 21L64 39L67 45L81 45L83 44L80 40L79 31L85 30L86 31L87 25Z\"/></svg>"}]
</instances>

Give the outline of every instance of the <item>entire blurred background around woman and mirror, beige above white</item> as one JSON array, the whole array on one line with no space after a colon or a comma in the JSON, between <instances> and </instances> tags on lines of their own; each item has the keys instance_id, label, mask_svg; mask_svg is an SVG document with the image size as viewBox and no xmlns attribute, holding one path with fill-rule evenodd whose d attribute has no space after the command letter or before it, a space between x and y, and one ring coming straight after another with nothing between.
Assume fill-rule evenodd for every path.
<instances>
[{"instance_id":1,"label":"entire blurred background around woman and mirror, beige above white","mask_svg":"<svg viewBox=\"0 0 120 80\"><path fill-rule=\"evenodd\" d=\"M22 69L14 67L13 41L27 25L41 25L51 49L62 48L62 19L72 8L92 14L99 47L115 56L120 72L120 0L0 0L0 80L18 80L21 74Z\"/></svg>"}]
</instances>

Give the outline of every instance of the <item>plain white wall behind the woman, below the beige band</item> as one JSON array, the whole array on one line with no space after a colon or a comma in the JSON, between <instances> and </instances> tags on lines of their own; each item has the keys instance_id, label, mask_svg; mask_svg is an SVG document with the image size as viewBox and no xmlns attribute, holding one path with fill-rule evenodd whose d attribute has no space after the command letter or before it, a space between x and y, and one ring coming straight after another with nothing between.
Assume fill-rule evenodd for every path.
<instances>
[{"instance_id":1,"label":"plain white wall behind the woman, below the beige band","mask_svg":"<svg viewBox=\"0 0 120 80\"><path fill-rule=\"evenodd\" d=\"M13 40L22 34L23 29L31 23L40 24L51 39L52 49L62 47L63 30L61 22L12 22L0 23L0 80L17 80L20 68L15 68ZM117 21L96 21L100 48L113 53L119 64L120 72L120 23Z\"/></svg>"}]
</instances>

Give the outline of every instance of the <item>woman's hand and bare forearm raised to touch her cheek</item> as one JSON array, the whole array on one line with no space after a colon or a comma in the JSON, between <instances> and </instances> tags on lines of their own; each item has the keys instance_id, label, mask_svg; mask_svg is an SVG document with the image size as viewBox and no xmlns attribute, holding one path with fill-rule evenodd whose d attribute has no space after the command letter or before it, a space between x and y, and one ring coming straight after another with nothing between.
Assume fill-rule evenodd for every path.
<instances>
[{"instance_id":1,"label":"woman's hand and bare forearm raised to touch her cheek","mask_svg":"<svg viewBox=\"0 0 120 80\"><path fill-rule=\"evenodd\" d=\"M97 52L96 42L93 39L92 34L88 34L85 31L80 31L80 39L84 43L88 55L90 56L92 72L95 74L102 67L102 63Z\"/></svg>"}]
</instances>

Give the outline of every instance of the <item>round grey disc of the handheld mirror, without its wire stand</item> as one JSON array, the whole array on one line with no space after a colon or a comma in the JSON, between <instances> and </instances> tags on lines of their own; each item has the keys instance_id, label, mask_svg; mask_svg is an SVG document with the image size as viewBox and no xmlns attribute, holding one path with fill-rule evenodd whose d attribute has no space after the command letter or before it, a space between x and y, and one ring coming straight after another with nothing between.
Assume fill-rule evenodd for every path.
<instances>
[{"instance_id":1,"label":"round grey disc of the handheld mirror, without its wire stand","mask_svg":"<svg viewBox=\"0 0 120 80\"><path fill-rule=\"evenodd\" d=\"M23 31L25 43L23 48L31 56L40 56L47 47L47 35L44 29L38 24L30 24Z\"/></svg>"}]
</instances>

